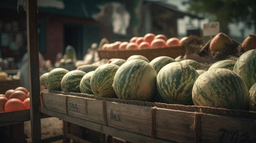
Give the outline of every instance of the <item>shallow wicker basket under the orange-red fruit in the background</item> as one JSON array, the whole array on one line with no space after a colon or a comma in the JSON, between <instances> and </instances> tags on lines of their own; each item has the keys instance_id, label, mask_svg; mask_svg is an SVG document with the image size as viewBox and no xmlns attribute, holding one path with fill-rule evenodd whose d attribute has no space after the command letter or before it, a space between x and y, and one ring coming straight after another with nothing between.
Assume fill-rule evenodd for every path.
<instances>
[{"instance_id":1,"label":"shallow wicker basket under the orange-red fruit in the background","mask_svg":"<svg viewBox=\"0 0 256 143\"><path fill-rule=\"evenodd\" d=\"M101 59L111 59L120 58L128 59L132 55L143 55L148 58L148 60L155 59L159 56L169 56L176 58L180 55L184 55L185 49L183 46L171 46L164 48L149 48L149 49L130 49L130 50L120 50L120 49L108 49L108 50L98 50L99 57Z\"/></svg>"}]
</instances>

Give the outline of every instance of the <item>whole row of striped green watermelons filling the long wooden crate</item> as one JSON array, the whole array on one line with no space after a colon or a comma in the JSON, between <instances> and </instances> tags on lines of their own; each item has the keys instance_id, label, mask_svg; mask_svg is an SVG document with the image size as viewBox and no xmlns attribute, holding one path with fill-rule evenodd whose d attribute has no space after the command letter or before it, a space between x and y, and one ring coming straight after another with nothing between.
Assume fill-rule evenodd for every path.
<instances>
[{"instance_id":1,"label":"whole row of striped green watermelons filling the long wooden crate","mask_svg":"<svg viewBox=\"0 0 256 143\"><path fill-rule=\"evenodd\" d=\"M133 55L101 66L56 68L42 75L40 84L106 98L256 110L256 49L236 62L222 60L209 69L189 59L176 62L161 56L149 61Z\"/></svg>"}]
</instances>

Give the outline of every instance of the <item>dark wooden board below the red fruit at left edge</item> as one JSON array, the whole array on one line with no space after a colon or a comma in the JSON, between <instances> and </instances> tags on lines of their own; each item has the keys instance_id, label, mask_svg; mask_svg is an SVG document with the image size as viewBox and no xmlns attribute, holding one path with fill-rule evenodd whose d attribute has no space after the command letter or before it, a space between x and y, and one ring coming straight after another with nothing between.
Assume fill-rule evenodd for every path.
<instances>
[{"instance_id":1,"label":"dark wooden board below the red fruit at left edge","mask_svg":"<svg viewBox=\"0 0 256 143\"><path fill-rule=\"evenodd\" d=\"M0 114L0 126L13 125L30 120L29 110L4 112Z\"/></svg>"}]
</instances>

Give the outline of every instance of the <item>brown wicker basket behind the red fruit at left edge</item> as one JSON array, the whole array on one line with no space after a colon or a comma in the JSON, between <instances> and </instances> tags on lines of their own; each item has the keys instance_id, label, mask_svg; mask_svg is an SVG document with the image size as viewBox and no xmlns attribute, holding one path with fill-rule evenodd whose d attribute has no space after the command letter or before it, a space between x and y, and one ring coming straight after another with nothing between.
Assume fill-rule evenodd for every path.
<instances>
[{"instance_id":1,"label":"brown wicker basket behind the red fruit at left edge","mask_svg":"<svg viewBox=\"0 0 256 143\"><path fill-rule=\"evenodd\" d=\"M20 80L0 81L0 94L4 94L9 89L15 89L21 86Z\"/></svg>"}]
</instances>

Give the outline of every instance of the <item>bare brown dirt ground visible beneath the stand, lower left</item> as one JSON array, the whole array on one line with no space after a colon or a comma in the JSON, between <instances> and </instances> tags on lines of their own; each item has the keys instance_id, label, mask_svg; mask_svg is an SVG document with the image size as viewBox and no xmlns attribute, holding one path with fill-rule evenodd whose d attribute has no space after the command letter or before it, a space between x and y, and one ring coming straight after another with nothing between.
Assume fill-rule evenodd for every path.
<instances>
[{"instance_id":1,"label":"bare brown dirt ground visible beneath the stand, lower left","mask_svg":"<svg viewBox=\"0 0 256 143\"><path fill-rule=\"evenodd\" d=\"M24 122L24 132L27 134L27 143L31 143L31 125L30 121ZM57 136L63 134L63 121L51 117L46 119L41 119L41 136L42 139ZM63 143L63 140L54 141L52 143Z\"/></svg>"}]
</instances>

